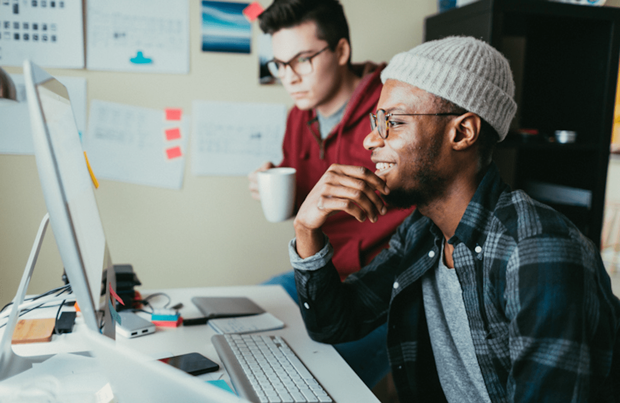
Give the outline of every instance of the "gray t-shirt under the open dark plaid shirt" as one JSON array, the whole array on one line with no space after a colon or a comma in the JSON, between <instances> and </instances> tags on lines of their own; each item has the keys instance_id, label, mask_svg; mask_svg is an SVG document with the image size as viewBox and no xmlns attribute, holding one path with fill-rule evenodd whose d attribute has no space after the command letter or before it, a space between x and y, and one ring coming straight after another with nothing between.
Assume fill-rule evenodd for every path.
<instances>
[{"instance_id":1,"label":"gray t-shirt under the open dark plaid shirt","mask_svg":"<svg viewBox=\"0 0 620 403\"><path fill-rule=\"evenodd\" d=\"M443 263L422 277L422 297L435 365L449 403L489 402L474 351L456 270Z\"/></svg>"}]
</instances>

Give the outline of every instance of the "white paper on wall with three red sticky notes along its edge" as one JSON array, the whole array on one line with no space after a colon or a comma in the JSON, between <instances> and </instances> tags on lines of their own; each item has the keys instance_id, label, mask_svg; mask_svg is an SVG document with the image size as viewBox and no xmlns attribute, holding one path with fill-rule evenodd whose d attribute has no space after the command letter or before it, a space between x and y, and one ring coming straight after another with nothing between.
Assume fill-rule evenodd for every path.
<instances>
[{"instance_id":1,"label":"white paper on wall with three red sticky notes along its edge","mask_svg":"<svg viewBox=\"0 0 620 403\"><path fill-rule=\"evenodd\" d=\"M97 179L180 189L188 126L187 115L94 99L84 149Z\"/></svg>"}]
</instances>

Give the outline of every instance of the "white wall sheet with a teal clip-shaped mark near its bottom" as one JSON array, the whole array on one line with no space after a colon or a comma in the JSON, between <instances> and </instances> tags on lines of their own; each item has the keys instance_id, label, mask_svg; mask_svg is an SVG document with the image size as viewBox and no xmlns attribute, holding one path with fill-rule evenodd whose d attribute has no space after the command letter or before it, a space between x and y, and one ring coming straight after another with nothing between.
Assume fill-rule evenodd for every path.
<instances>
[{"instance_id":1,"label":"white wall sheet with a teal clip-shaped mark near its bottom","mask_svg":"<svg viewBox=\"0 0 620 403\"><path fill-rule=\"evenodd\" d=\"M86 68L189 73L188 0L89 0Z\"/></svg>"}]
</instances>

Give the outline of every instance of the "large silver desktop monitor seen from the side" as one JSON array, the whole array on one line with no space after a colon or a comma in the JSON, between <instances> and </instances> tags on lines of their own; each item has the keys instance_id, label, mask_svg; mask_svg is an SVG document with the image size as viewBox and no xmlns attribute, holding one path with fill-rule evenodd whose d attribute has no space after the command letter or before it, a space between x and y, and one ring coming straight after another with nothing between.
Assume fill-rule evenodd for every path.
<instances>
[{"instance_id":1,"label":"large silver desktop monitor seen from the side","mask_svg":"<svg viewBox=\"0 0 620 403\"><path fill-rule=\"evenodd\" d=\"M104 334L113 339L114 269L69 94L28 60L24 80L39 179L64 270L86 325L99 330L103 312Z\"/></svg>"}]
</instances>

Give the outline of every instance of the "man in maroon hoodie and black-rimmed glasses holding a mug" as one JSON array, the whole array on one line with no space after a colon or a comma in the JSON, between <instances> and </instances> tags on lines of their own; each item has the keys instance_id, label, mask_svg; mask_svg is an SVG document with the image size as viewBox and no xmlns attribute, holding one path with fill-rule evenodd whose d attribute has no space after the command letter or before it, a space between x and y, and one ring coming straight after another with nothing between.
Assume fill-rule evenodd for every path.
<instances>
[{"instance_id":1,"label":"man in maroon hoodie and black-rimmed glasses holding a mug","mask_svg":"<svg viewBox=\"0 0 620 403\"><path fill-rule=\"evenodd\" d=\"M299 207L331 164L373 167L362 141L370 130L368 113L379 99L384 64L351 63L347 19L337 0L275 0L259 20L263 32L272 35L274 58L268 67L294 100L280 166L297 170ZM267 162L259 170L270 167ZM259 199L255 172L250 191ZM334 255L339 277L370 262L412 210L389 208L378 223L344 212L325 219L323 230L339 250ZM267 283L282 285L297 300L292 270ZM378 329L359 343L335 346L369 387L389 372L385 334L385 328Z\"/></svg>"}]
</instances>

